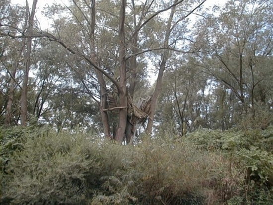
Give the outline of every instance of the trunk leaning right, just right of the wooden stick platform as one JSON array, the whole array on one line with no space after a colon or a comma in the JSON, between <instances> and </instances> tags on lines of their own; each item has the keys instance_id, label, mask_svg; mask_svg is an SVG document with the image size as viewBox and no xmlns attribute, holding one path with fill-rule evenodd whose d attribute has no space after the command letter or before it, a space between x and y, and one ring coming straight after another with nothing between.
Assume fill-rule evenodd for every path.
<instances>
[{"instance_id":1,"label":"trunk leaning right, just right of the wooden stick platform","mask_svg":"<svg viewBox=\"0 0 273 205\"><path fill-rule=\"evenodd\" d=\"M174 3L176 3L176 2L177 2L177 0L174 1ZM167 22L166 35L165 35L165 39L164 39L164 48L169 47L171 24L172 24L174 13L175 13L175 6L172 7L171 13L170 13L170 16L169 16L169 19ZM152 131L156 101L157 101L159 93L161 92L161 89L162 89L162 78L163 78L163 74L165 71L166 62L167 62L168 57L169 57L169 52L165 50L163 52L163 55L161 58L161 62L160 62L160 66L159 66L159 73L158 73L157 80L156 80L156 86L155 86L155 90L153 92L153 96L151 99L151 110L150 110L150 115L149 115L148 124L147 124L147 128L146 128L146 133L148 133L148 134L150 134Z\"/></svg>"}]
</instances>

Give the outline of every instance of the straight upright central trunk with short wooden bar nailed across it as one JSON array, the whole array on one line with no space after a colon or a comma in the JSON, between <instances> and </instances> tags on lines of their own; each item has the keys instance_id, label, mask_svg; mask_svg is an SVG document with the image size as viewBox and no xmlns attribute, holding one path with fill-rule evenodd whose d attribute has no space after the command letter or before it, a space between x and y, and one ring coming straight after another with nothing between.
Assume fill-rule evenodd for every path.
<instances>
[{"instance_id":1,"label":"straight upright central trunk with short wooden bar nailed across it","mask_svg":"<svg viewBox=\"0 0 273 205\"><path fill-rule=\"evenodd\" d=\"M126 0L121 0L121 9L120 9L120 26L119 26L119 39L120 39L120 88L119 93L120 106L126 107L121 108L119 112L119 125L117 129L117 134L115 140L122 143L124 139L124 133L127 123L127 88L126 88L126 44L125 44L125 8Z\"/></svg>"}]
</instances>

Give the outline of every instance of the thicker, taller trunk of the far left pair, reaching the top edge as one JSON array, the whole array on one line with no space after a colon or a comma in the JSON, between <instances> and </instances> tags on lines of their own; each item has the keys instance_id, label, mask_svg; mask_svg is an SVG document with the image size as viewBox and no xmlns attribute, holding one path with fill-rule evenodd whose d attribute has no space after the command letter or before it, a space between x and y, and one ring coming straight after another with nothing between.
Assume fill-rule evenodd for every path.
<instances>
[{"instance_id":1,"label":"thicker, taller trunk of the far left pair, reaching the top edge","mask_svg":"<svg viewBox=\"0 0 273 205\"><path fill-rule=\"evenodd\" d=\"M37 4L37 0L33 0L31 13L28 18L28 28L26 31L27 34L32 34L36 4ZM26 8L27 8L26 13L28 13L29 7L28 7L27 0L26 0ZM31 43L32 43L32 38L31 37L26 38L26 51L24 53L25 71L24 71L24 79L23 79L22 94L21 94L21 125L22 126L26 126L26 123L27 123L27 89L28 89L27 85L28 85L28 74L29 74L29 69L31 64L30 62L31 61Z\"/></svg>"}]
</instances>

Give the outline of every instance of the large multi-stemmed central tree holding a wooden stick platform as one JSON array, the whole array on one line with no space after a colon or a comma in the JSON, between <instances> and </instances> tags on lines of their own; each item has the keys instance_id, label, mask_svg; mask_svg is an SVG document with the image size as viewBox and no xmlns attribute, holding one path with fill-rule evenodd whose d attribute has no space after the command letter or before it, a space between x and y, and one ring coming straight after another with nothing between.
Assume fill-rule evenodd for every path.
<instances>
[{"instance_id":1,"label":"large multi-stemmed central tree holding a wooden stick platform","mask_svg":"<svg viewBox=\"0 0 273 205\"><path fill-rule=\"evenodd\" d=\"M121 0L120 4L116 1L107 1L109 5L113 5L110 8L109 5L107 5L107 9L103 8L106 2L99 2L100 4L98 5L94 0L73 0L72 2L71 6L66 7L71 13L69 19L72 20L72 23L68 23L64 16L60 16L58 20L54 21L56 30L53 34L47 32L34 33L32 30L22 31L21 29L18 29L17 32L14 33L1 31L1 35L10 36L15 39L22 37L26 39L46 37L51 41L58 42L68 52L76 55L78 61L84 61L85 64L89 64L89 67L93 70L89 70L88 75L95 76L95 81L98 83L97 87L100 88L99 94L95 94L98 98L94 97L94 93L89 93L90 96L93 96L94 100L99 101L105 136L113 134L115 135L115 140L122 142L126 135L127 142L130 142L136 131L136 125L142 123L148 115L153 119L154 111L152 111L153 113L150 113L149 109L151 108L151 110L154 110L158 96L157 93L160 92L160 78L162 79L168 58L167 50L175 50L175 45L168 43L171 31L179 22L185 19L205 1L198 3L190 12L180 11L182 17L177 19L176 22L172 22L176 11L175 7L184 2L184 0L175 0L168 4L156 4L154 0L136 3L132 0L130 6L129 3L127 4L126 0ZM188 6L187 4L185 5ZM112 12L117 11L117 6L120 8L119 16L115 15L115 12ZM127 7L131 9L132 12L127 12ZM55 15L56 8L57 7L54 6L49 11ZM154 35L150 32L148 34L143 33L145 26L149 25L149 23L155 19L163 22L164 20L159 16L169 9L171 9L171 15L166 23L169 29L167 29L165 33L165 41L163 44L154 42L153 37L150 42L145 42L144 46L142 46L143 44L140 44L140 42L145 39L145 36ZM139 14L137 14L137 11L140 11ZM97 15L97 12L99 12L99 15ZM104 18L104 16L107 16L107 18ZM1 25L1 27L6 26ZM68 29L69 36L65 32L68 31ZM162 34L162 28L160 29L159 34ZM111 44L112 47L100 45L98 44L98 41L95 40L97 35L102 31L105 31L106 33L110 33L109 31L111 31L113 41L111 43L107 42L106 44L104 41L103 44L106 46L110 46ZM160 42L160 38L156 38L156 40ZM155 47L156 45L159 45L159 47ZM147 52L158 52L160 50L165 51L162 53L159 81L155 94L153 95L153 100L143 102L139 106L136 106L134 103L135 88L137 84L136 76L138 73L143 73L143 70L141 71L139 68L141 63L140 60L137 60L137 57L139 55L145 55ZM110 59L107 59L109 53L114 55ZM108 61L112 61L113 65L109 66ZM82 63L82 65L83 64L84 63ZM94 90L88 89L86 83L88 79L86 79L85 75L80 74L78 77L78 79L81 79L82 85L86 90ZM109 106L107 101L110 101L110 97L116 101L116 106ZM109 113L115 111L118 112L118 126L117 128L112 126L111 133ZM148 124L147 130L149 132L152 121Z\"/></svg>"}]
</instances>

